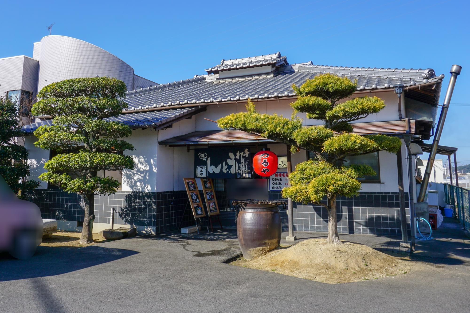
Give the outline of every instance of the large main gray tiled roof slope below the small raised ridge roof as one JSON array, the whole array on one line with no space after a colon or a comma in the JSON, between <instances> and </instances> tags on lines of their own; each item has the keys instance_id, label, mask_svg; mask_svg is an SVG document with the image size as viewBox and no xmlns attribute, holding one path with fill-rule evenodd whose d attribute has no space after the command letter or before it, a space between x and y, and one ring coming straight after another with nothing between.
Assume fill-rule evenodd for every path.
<instances>
[{"instance_id":1,"label":"large main gray tiled roof slope below the small raised ridge roof","mask_svg":"<svg viewBox=\"0 0 470 313\"><path fill-rule=\"evenodd\" d=\"M301 85L306 79L327 72L351 80L357 79L358 91L392 88L398 84L415 86L444 78L444 75L436 77L432 69L378 69L298 63L282 65L274 73L257 76L227 79L212 78L216 75L196 76L129 92L125 102L129 104L127 110L145 110L180 104L245 100L248 97L263 99L294 96L292 84Z\"/></svg>"}]
</instances>

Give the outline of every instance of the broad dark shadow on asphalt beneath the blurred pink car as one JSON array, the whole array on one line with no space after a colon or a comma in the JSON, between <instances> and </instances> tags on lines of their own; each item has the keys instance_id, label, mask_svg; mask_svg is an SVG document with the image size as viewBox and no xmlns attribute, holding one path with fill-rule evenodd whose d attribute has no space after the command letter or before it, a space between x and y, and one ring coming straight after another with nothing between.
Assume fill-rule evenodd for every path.
<instances>
[{"instance_id":1,"label":"broad dark shadow on asphalt beneath the blurred pink car","mask_svg":"<svg viewBox=\"0 0 470 313\"><path fill-rule=\"evenodd\" d=\"M28 260L17 260L8 253L0 253L0 282L70 273L137 253L100 246L79 249L38 246L36 254Z\"/></svg>"}]
</instances>

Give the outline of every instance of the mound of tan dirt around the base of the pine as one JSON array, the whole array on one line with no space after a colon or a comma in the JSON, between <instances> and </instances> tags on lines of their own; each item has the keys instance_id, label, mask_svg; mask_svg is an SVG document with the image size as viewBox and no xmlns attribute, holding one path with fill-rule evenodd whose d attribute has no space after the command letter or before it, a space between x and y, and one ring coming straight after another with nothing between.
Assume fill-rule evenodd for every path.
<instances>
[{"instance_id":1,"label":"mound of tan dirt around the base of the pine","mask_svg":"<svg viewBox=\"0 0 470 313\"><path fill-rule=\"evenodd\" d=\"M407 273L410 264L359 243L327 244L309 239L288 248L272 250L235 265L272 271L318 282L357 282Z\"/></svg>"}]
</instances>

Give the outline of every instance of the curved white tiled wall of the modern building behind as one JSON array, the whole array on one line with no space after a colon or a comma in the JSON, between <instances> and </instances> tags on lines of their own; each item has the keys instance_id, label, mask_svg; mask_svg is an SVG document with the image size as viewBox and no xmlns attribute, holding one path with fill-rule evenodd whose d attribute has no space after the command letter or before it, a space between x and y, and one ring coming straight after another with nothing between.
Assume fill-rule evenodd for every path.
<instances>
[{"instance_id":1,"label":"curved white tiled wall of the modern building behind","mask_svg":"<svg viewBox=\"0 0 470 313\"><path fill-rule=\"evenodd\" d=\"M51 35L34 45L39 57L38 90L51 83L80 77L109 76L121 79L134 89L134 70L118 57L88 42ZM153 85L153 84L152 84Z\"/></svg>"}]
</instances>

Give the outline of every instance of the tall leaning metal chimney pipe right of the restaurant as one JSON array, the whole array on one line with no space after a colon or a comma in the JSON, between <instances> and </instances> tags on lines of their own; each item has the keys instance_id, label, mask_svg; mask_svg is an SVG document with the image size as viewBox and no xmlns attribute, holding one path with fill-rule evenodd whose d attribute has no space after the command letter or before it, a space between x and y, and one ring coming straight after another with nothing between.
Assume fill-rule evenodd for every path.
<instances>
[{"instance_id":1,"label":"tall leaning metal chimney pipe right of the restaurant","mask_svg":"<svg viewBox=\"0 0 470 313\"><path fill-rule=\"evenodd\" d=\"M452 98L452 93L454 92L455 81L457 80L457 76L460 75L461 70L462 66L456 64L452 65L450 69L449 86L447 86L446 97L444 98L444 105L442 106L437 129L434 133L434 140L432 141L428 164L426 164L426 171L424 172L423 181L421 183L421 190L419 191L419 196L417 199L418 202L423 202L424 196L426 196L426 189L429 183L429 177L431 176L432 166L434 165L434 159L436 158L436 152L438 150L442 129L444 128L444 122L446 121L446 115L447 110L449 109L450 99Z\"/></svg>"}]
</instances>

